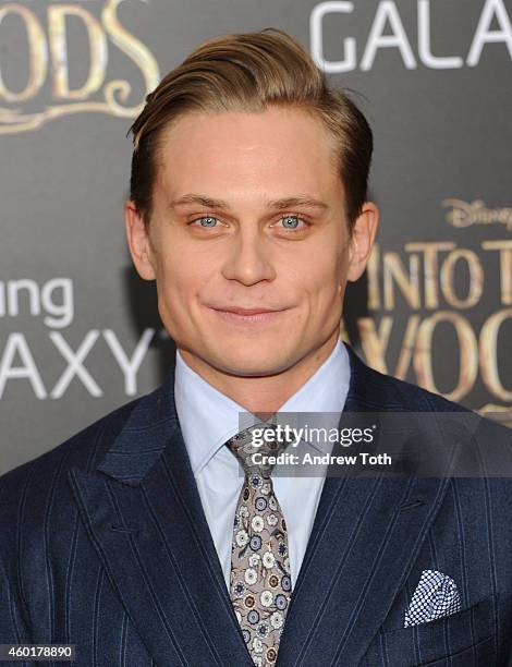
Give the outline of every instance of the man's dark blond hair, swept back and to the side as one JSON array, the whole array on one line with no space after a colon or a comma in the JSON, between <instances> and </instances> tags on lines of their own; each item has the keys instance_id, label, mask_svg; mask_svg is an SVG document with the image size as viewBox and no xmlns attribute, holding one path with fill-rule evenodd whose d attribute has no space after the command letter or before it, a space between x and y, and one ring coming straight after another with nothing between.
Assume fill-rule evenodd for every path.
<instances>
[{"instance_id":1,"label":"man's dark blond hair, swept back and to the side","mask_svg":"<svg viewBox=\"0 0 512 667\"><path fill-rule=\"evenodd\" d=\"M346 93L328 86L325 74L290 35L278 28L222 35L199 45L146 97L129 130L134 151L130 196L146 225L162 131L187 111L260 112L291 105L316 114L334 140L350 227L366 201L371 130Z\"/></svg>"}]
</instances>

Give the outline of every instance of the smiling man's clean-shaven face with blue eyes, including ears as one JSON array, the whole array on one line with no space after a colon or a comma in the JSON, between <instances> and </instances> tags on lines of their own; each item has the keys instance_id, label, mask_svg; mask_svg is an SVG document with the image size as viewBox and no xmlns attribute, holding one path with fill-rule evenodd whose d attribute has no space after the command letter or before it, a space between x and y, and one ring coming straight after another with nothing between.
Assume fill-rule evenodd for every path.
<instances>
[{"instance_id":1,"label":"smiling man's clean-shaven face with blue eyes, including ears","mask_svg":"<svg viewBox=\"0 0 512 667\"><path fill-rule=\"evenodd\" d=\"M333 340L369 232L351 243L321 122L277 107L187 113L162 137L160 155L147 235L130 206L126 223L176 347L217 372L259 376Z\"/></svg>"}]
</instances>

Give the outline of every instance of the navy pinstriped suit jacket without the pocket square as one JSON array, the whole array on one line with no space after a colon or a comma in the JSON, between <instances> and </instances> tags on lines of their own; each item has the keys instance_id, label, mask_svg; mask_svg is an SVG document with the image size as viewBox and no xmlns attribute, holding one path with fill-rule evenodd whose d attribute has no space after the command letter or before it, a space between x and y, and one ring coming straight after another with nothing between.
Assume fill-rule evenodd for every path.
<instances>
[{"instance_id":1,"label":"navy pinstriped suit jacket without the pocket square","mask_svg":"<svg viewBox=\"0 0 512 667\"><path fill-rule=\"evenodd\" d=\"M345 411L456 409L350 356ZM0 643L73 643L81 667L251 667L173 387L171 373L0 478ZM403 628L426 569L458 582L461 611ZM512 480L326 480L278 667L488 667L511 652Z\"/></svg>"}]
</instances>

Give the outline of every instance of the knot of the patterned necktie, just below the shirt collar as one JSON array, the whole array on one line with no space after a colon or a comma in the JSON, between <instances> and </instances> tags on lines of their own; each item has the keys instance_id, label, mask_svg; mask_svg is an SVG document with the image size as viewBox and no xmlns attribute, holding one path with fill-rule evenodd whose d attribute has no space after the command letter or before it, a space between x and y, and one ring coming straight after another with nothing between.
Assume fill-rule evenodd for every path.
<instances>
[{"instance_id":1,"label":"knot of the patterned necktie, just below the shirt collar","mask_svg":"<svg viewBox=\"0 0 512 667\"><path fill-rule=\"evenodd\" d=\"M260 471L269 474L275 463L269 463L266 458L277 456L288 445L278 441L276 435L276 426L254 424L230 438L225 445L242 463L246 473Z\"/></svg>"}]
</instances>

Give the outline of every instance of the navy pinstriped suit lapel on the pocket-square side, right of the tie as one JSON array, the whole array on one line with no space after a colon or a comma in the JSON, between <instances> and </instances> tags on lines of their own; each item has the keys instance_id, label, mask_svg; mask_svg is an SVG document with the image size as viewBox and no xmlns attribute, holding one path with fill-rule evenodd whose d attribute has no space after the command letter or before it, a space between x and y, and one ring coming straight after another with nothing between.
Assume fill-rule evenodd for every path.
<instances>
[{"instance_id":1,"label":"navy pinstriped suit lapel on the pocket-square side, right of the tie","mask_svg":"<svg viewBox=\"0 0 512 667\"><path fill-rule=\"evenodd\" d=\"M352 351L350 356L340 427L346 413L383 412L391 402L389 391L380 395L381 376ZM326 478L287 616L279 667L362 660L404 584L448 483L447 477Z\"/></svg>"}]
</instances>

